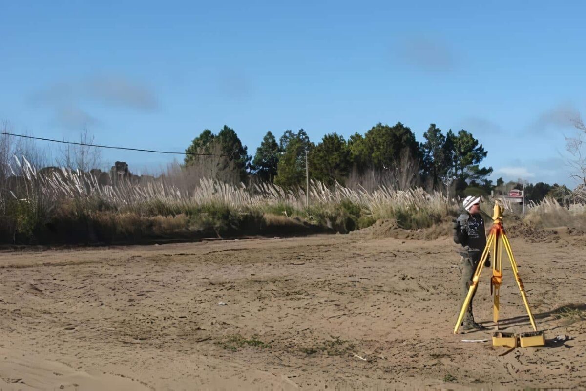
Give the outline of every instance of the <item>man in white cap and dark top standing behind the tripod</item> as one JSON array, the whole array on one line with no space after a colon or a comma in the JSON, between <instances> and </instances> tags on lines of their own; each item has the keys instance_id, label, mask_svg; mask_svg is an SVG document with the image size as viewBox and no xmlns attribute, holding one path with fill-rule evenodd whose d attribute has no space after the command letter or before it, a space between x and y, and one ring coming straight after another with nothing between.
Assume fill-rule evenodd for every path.
<instances>
[{"instance_id":1,"label":"man in white cap and dark top standing behind the tripod","mask_svg":"<svg viewBox=\"0 0 586 391\"><path fill-rule=\"evenodd\" d=\"M472 277L482 257L482 252L486 247L486 232L484 220L480 215L481 197L468 196L464 199L464 212L454 220L454 242L464 247L460 252L462 254L462 302L468 295L468 288L472 284ZM490 259L487 257L485 265L490 267ZM475 293L476 294L476 293ZM485 330L483 325L474 321L472 314L472 300L464 316L464 330Z\"/></svg>"}]
</instances>

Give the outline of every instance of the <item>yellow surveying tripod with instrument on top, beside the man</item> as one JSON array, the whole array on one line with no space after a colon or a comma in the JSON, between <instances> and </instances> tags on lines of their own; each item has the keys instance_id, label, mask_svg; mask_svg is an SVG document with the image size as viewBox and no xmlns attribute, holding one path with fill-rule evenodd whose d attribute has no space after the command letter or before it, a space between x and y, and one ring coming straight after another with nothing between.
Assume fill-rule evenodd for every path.
<instances>
[{"instance_id":1,"label":"yellow surveying tripod with instrument on top, beside the man","mask_svg":"<svg viewBox=\"0 0 586 391\"><path fill-rule=\"evenodd\" d=\"M474 276L472 277L472 284L468 288L468 295L466 295L464 304L462 304L462 309L460 310L460 314L458 315L458 321L456 322L456 325L454 327L454 334L458 333L458 329L460 328L462 319L464 319L464 314L466 310L468 310L468 306L470 305L470 301L472 300L472 295L475 293L476 288L478 287L478 280L480 279L482 267L486 261L486 258L488 257L489 252L492 253L492 278L490 278L490 294L495 295L493 307L493 321L497 324L498 327L500 307L500 283L502 282L503 278L501 268L503 247L505 247L507 256L509 256L511 267L513 269L513 275L515 276L515 280L517 281L517 285L519 286L519 291L521 293L521 297L523 298L523 302L525 303L527 314L529 314L529 320L531 321L531 325L533 326L534 331L537 331L535 319L533 318L533 314L531 313L531 308L529 308L529 302L527 301L527 295L525 293L525 288L523 287L523 281L521 280L521 277L519 277L519 270L517 270L517 263L515 261L515 257L513 256L513 250L511 250L509 238L507 238L505 229L503 228L502 208L500 208L500 205L497 201L495 201L495 208L492 220L494 221L494 223L492 225L492 228L490 229L488 238L486 238L486 247L482 252L482 257L478 262L478 266L476 266L476 271L474 272Z\"/></svg>"}]
</instances>

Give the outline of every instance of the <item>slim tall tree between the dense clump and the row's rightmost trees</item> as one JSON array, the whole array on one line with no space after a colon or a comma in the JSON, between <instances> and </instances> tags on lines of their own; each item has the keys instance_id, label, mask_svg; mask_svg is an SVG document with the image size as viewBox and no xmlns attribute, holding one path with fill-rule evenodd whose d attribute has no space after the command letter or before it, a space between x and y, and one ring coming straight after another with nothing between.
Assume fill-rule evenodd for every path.
<instances>
[{"instance_id":1,"label":"slim tall tree between the dense clump and the row's rightmost trees","mask_svg":"<svg viewBox=\"0 0 586 391\"><path fill-rule=\"evenodd\" d=\"M437 187L448 171L445 159L446 138L441 129L436 127L435 124L430 125L423 137L425 142L421 144L421 153L423 154L422 168L424 174L431 178L433 186Z\"/></svg>"}]
</instances>

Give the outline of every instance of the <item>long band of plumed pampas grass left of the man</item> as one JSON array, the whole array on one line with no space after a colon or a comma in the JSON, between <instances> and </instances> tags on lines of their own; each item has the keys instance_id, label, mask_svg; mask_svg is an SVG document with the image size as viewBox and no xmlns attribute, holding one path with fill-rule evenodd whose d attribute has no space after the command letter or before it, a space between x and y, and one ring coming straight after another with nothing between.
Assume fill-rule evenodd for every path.
<instances>
[{"instance_id":1,"label":"long band of plumed pampas grass left of the man","mask_svg":"<svg viewBox=\"0 0 586 391\"><path fill-rule=\"evenodd\" d=\"M270 233L308 227L338 232L397 219L400 226L431 226L455 213L440 193L367 191L311 181L304 189L271 183L233 185L199 177L175 166L157 178L130 181L109 172L113 185L94 174L66 168L38 170L13 157L11 177L0 190L2 242L116 242L153 237Z\"/></svg>"}]
</instances>

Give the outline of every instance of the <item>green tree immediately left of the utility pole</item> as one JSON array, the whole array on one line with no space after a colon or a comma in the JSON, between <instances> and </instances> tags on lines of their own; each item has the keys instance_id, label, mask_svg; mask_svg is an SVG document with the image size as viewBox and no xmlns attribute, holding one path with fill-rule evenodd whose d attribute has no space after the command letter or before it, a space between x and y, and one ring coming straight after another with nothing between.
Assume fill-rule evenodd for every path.
<instances>
[{"instance_id":1,"label":"green tree immediately left of the utility pole","mask_svg":"<svg viewBox=\"0 0 586 391\"><path fill-rule=\"evenodd\" d=\"M303 129L297 133L285 131L279 140L281 156L277 165L275 184L284 187L301 186L305 179L305 150L311 153L313 145Z\"/></svg>"}]
</instances>

